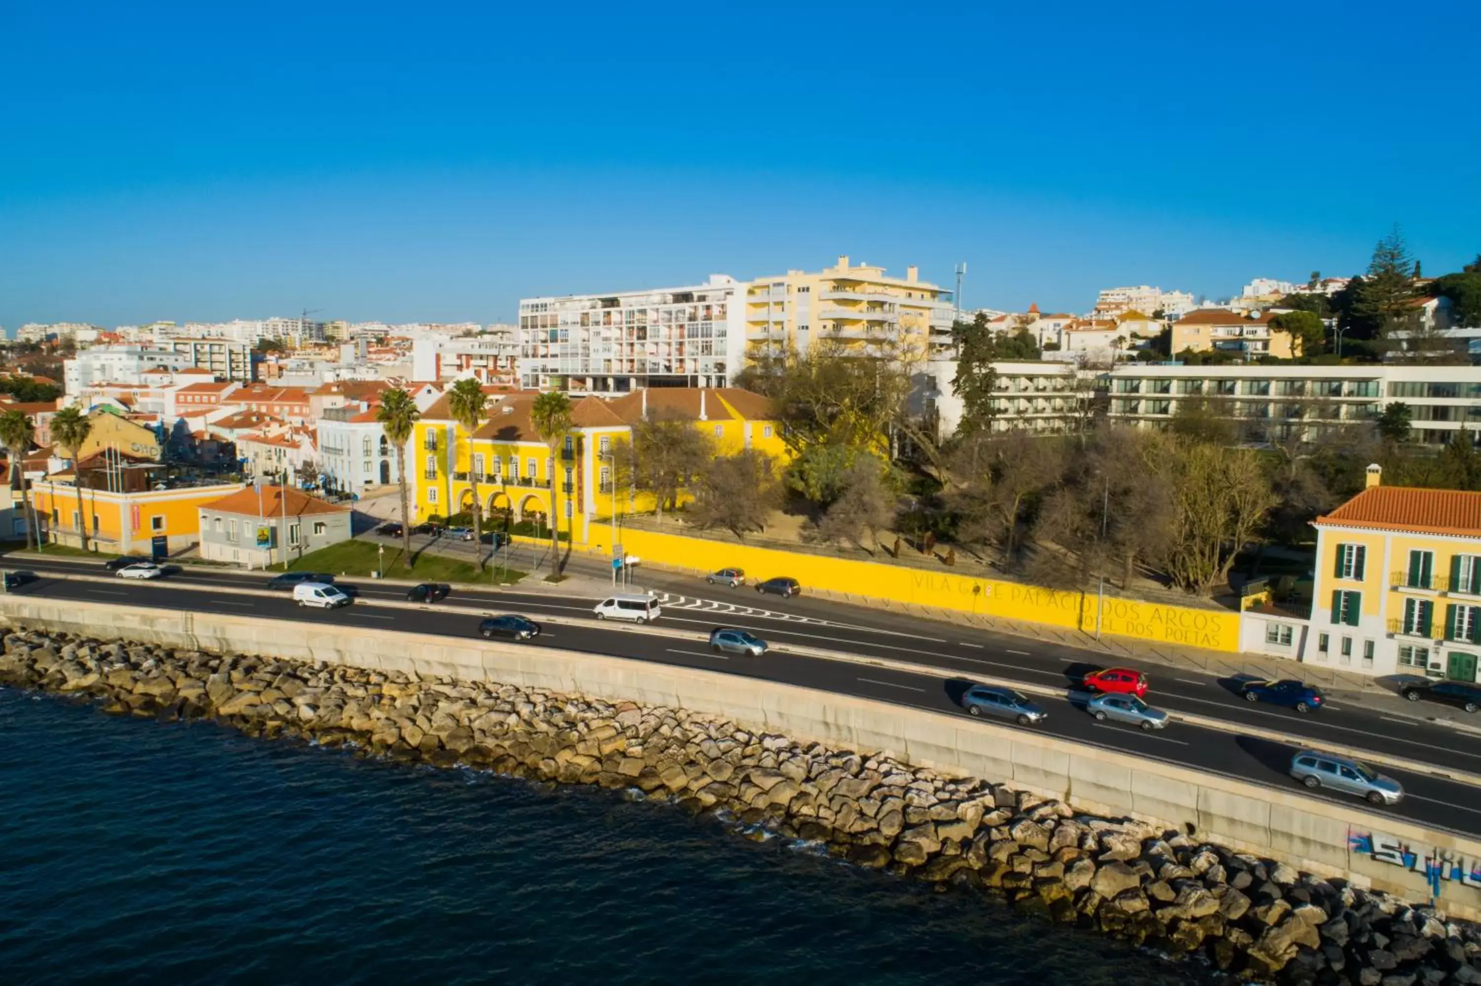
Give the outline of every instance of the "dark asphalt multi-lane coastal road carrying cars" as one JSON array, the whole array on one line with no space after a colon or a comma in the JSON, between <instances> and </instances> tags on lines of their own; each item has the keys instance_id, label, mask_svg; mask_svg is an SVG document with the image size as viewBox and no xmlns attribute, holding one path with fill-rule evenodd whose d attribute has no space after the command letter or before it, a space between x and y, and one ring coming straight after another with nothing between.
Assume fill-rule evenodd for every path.
<instances>
[{"instance_id":1,"label":"dark asphalt multi-lane coastal road carrying cars","mask_svg":"<svg viewBox=\"0 0 1481 986\"><path fill-rule=\"evenodd\" d=\"M435 607L404 608L385 603L404 598L404 586L376 580L351 580L357 603L341 610L302 610L290 594L247 595L240 589L262 589L261 573L228 570L182 570L166 580L108 582L58 579L56 574L102 576L96 563L83 560L27 560L25 569L39 577L18 594L52 598L151 606L190 611L215 611L264 619L315 620L387 631L472 637L486 613L524 613L532 619L586 617L595 601L554 589L514 592L455 592ZM826 607L818 601L779 600L699 583L690 597L672 597L659 626L708 632L715 626L743 626L780 650L760 659L712 654L702 643L672 635L649 634L641 628L607 629L592 625L548 625L542 644L576 651L616 654L659 663L703 668L723 674L783 681L837 693L961 714L961 690L974 678L992 677L1063 691L1035 696L1049 711L1040 728L1063 739L1131 752L1214 773L1232 774L1300 792L1286 776L1293 746L1253 734L1277 730L1306 737L1324 749L1380 749L1392 757L1441 770L1481 773L1478 743L1468 734L1408 718L1383 717L1360 708L1339 708L1317 715L1299 715L1235 697L1217 680L1195 674L1152 674L1148 699L1155 705L1223 720L1229 728L1204 728L1174 722L1161 733L1096 722L1069 700L1069 683L1081 669L1083 651L1054 653L1013 637L983 634L887 614L865 614L850 607ZM378 606L379 603L379 606ZM857 616L863 619L843 619ZM844 651L860 657L909 662L918 671L871 666L847 660L786 653L788 647ZM1251 730L1241 733L1241 730ZM1400 805L1379 811L1423 822L1468 835L1481 835L1481 788L1437 776L1435 771L1395 770L1408 796Z\"/></svg>"}]
</instances>

